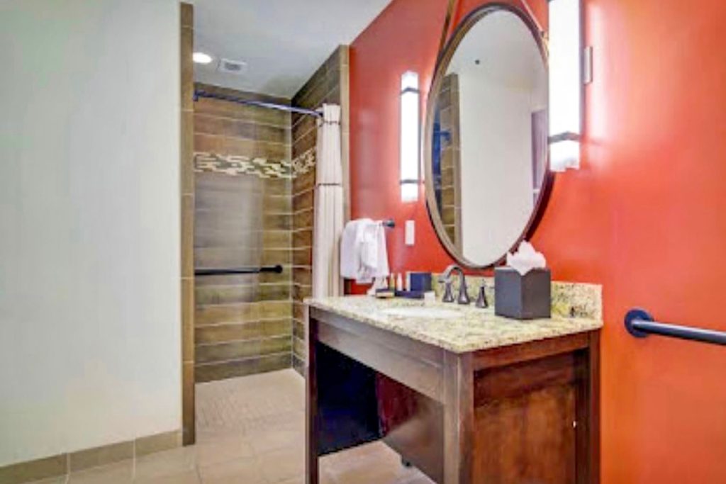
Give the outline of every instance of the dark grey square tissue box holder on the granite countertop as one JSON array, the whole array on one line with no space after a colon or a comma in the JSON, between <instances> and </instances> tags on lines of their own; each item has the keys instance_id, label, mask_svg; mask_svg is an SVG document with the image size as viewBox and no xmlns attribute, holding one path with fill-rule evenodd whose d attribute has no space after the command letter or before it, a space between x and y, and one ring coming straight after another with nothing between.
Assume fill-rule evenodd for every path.
<instances>
[{"instance_id":1,"label":"dark grey square tissue box holder on the granite countertop","mask_svg":"<svg viewBox=\"0 0 726 484\"><path fill-rule=\"evenodd\" d=\"M549 318L552 306L550 269L524 276L510 267L494 269L494 313L513 319Z\"/></svg>"}]
</instances>

